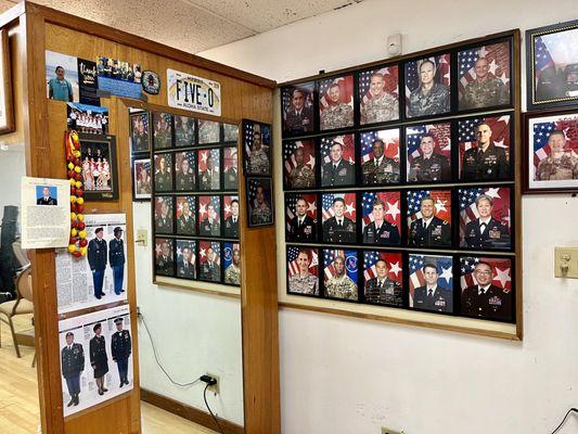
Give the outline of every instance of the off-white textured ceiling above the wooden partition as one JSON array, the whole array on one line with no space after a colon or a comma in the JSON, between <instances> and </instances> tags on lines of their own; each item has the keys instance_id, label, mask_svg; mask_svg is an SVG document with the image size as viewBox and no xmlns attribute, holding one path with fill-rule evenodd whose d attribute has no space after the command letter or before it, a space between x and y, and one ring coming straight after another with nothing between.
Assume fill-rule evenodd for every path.
<instances>
[{"instance_id":1,"label":"off-white textured ceiling above the wooden partition","mask_svg":"<svg viewBox=\"0 0 578 434\"><path fill-rule=\"evenodd\" d=\"M197 53L362 0L34 0ZM16 4L0 0L0 11Z\"/></svg>"}]
</instances>

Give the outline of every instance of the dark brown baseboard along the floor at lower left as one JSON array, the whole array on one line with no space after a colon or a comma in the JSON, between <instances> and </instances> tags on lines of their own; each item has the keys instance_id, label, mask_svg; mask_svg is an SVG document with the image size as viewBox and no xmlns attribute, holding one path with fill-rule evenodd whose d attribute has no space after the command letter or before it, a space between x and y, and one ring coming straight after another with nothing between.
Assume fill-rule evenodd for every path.
<instances>
[{"instance_id":1,"label":"dark brown baseboard along the floor at lower left","mask_svg":"<svg viewBox=\"0 0 578 434\"><path fill-rule=\"evenodd\" d=\"M141 388L141 399L145 403L149 403L155 407L162 408L170 413L180 416L183 419L190 420L191 422L198 423L200 425L206 426L209 430L219 432L219 429L213 417L203 410L188 406L185 404L179 403L178 400L171 399L167 396L159 395L155 392ZM228 420L217 417L219 424L223 430L223 434L244 434L245 430L243 426L237 425L236 423L229 422Z\"/></svg>"}]
</instances>

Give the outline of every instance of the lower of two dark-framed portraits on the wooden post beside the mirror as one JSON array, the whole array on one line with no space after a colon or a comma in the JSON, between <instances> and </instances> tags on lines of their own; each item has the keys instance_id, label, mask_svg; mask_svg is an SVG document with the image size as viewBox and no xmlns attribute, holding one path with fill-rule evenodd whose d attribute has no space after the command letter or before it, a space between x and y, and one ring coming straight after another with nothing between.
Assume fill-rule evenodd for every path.
<instances>
[{"instance_id":1,"label":"lower of two dark-framed portraits on the wooden post beside the mirror","mask_svg":"<svg viewBox=\"0 0 578 434\"><path fill-rule=\"evenodd\" d=\"M246 179L248 227L274 224L273 183L271 178Z\"/></svg>"}]
</instances>

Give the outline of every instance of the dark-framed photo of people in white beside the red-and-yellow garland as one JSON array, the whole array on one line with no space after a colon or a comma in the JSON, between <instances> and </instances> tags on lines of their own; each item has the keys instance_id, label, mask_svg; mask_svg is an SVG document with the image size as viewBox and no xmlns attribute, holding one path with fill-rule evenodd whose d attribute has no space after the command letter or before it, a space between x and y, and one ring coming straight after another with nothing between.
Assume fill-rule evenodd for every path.
<instances>
[{"instance_id":1,"label":"dark-framed photo of people in white beside the red-and-yellow garland","mask_svg":"<svg viewBox=\"0 0 578 434\"><path fill-rule=\"evenodd\" d=\"M118 199L115 137L79 133L78 138L85 199L88 201Z\"/></svg>"}]
</instances>

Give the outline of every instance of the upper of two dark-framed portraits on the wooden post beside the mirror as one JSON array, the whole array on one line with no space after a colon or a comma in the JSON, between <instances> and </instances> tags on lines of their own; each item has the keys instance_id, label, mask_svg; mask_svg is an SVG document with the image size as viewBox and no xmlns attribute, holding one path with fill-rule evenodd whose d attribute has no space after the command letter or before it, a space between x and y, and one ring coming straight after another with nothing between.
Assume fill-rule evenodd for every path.
<instances>
[{"instance_id":1,"label":"upper of two dark-framed portraits on the wooden post beside the mirror","mask_svg":"<svg viewBox=\"0 0 578 434\"><path fill-rule=\"evenodd\" d=\"M271 176L271 126L243 119L243 167L246 175Z\"/></svg>"}]
</instances>

